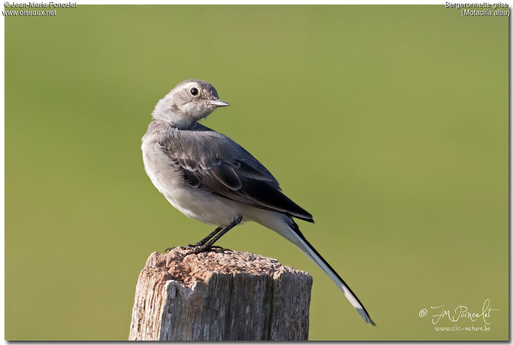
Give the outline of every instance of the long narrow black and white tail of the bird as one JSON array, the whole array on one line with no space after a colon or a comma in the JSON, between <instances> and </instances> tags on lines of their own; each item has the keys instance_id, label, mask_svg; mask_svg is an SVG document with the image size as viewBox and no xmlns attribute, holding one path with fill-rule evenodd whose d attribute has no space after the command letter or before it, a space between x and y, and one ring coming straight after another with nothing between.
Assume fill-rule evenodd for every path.
<instances>
[{"instance_id":1,"label":"long narrow black and white tail of the bird","mask_svg":"<svg viewBox=\"0 0 513 345\"><path fill-rule=\"evenodd\" d=\"M290 221L288 222L288 227L291 231L287 231L286 234L282 233L280 231L279 233L287 238L289 241L294 243L303 253L306 254L313 262L315 262L315 265L319 266L321 270L323 270L330 278L333 280L337 286L342 290L346 298L349 300L351 305L360 313L360 315L363 317L363 319L367 323L371 323L373 326L376 326L376 324L371 320L369 313L365 310L365 307L362 305L362 302L358 299L358 297L354 294L354 292L351 291L351 289L347 286L345 281L339 276L339 274L329 266L329 263L319 254L315 248L313 248L312 245L306 240L305 236L301 233L299 230L299 227L297 224L295 224L294 220L289 218ZM291 222L291 224L290 224ZM274 230L274 229L273 229ZM276 231L276 230L275 230Z\"/></svg>"}]
</instances>

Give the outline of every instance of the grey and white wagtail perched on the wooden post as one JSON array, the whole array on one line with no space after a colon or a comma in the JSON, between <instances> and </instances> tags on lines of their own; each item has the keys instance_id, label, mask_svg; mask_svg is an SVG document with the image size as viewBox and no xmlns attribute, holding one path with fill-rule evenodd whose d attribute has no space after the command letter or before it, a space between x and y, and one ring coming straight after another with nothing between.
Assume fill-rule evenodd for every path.
<instances>
[{"instance_id":1,"label":"grey and white wagtail perched on the wooden post","mask_svg":"<svg viewBox=\"0 0 513 345\"><path fill-rule=\"evenodd\" d=\"M313 223L312 215L283 194L278 180L242 146L199 123L227 106L211 84L184 80L156 104L142 138L144 168L156 189L187 217L216 226L187 246L192 249L187 255L215 250L213 244L233 227L257 222L297 246L337 284L363 319L376 326L294 221Z\"/></svg>"}]
</instances>

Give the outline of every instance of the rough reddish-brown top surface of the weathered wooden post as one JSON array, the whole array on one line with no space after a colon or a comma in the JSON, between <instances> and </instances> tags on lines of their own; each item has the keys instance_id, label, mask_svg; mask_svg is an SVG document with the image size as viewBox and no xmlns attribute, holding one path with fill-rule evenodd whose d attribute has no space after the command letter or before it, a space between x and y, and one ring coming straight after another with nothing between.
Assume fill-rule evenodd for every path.
<instances>
[{"instance_id":1,"label":"rough reddish-brown top surface of the weathered wooden post","mask_svg":"<svg viewBox=\"0 0 513 345\"><path fill-rule=\"evenodd\" d=\"M309 277L308 272L282 266L278 260L262 255L225 250L224 253L203 252L186 256L189 251L175 247L167 254L153 252L143 271L161 275L161 282L175 280L186 286L198 281L207 282L213 274L265 274L275 278L289 272Z\"/></svg>"}]
</instances>

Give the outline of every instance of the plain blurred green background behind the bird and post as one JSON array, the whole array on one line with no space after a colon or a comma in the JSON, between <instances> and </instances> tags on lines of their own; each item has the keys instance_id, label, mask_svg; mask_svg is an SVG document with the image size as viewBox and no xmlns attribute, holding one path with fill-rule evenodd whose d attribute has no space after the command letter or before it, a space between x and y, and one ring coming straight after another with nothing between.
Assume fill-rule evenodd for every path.
<instances>
[{"instance_id":1,"label":"plain blurred green background behind the bird and post","mask_svg":"<svg viewBox=\"0 0 513 345\"><path fill-rule=\"evenodd\" d=\"M212 229L143 168L156 102L205 79L377 327L257 224L219 245L313 276L310 339L507 339L508 21L440 6L81 6L5 17L6 338L127 339L153 251ZM494 312L437 332L421 309ZM482 320L436 326L484 326Z\"/></svg>"}]
</instances>

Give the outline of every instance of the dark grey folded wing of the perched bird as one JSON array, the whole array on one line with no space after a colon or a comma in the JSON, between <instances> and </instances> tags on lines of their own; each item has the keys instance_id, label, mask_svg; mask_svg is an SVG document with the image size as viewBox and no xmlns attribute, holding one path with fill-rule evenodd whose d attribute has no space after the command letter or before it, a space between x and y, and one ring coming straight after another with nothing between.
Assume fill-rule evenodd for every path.
<instances>
[{"instance_id":1,"label":"dark grey folded wing of the perched bird","mask_svg":"<svg viewBox=\"0 0 513 345\"><path fill-rule=\"evenodd\" d=\"M281 192L274 176L227 136L196 124L193 130L171 131L159 144L191 187L313 222L310 213Z\"/></svg>"}]
</instances>

